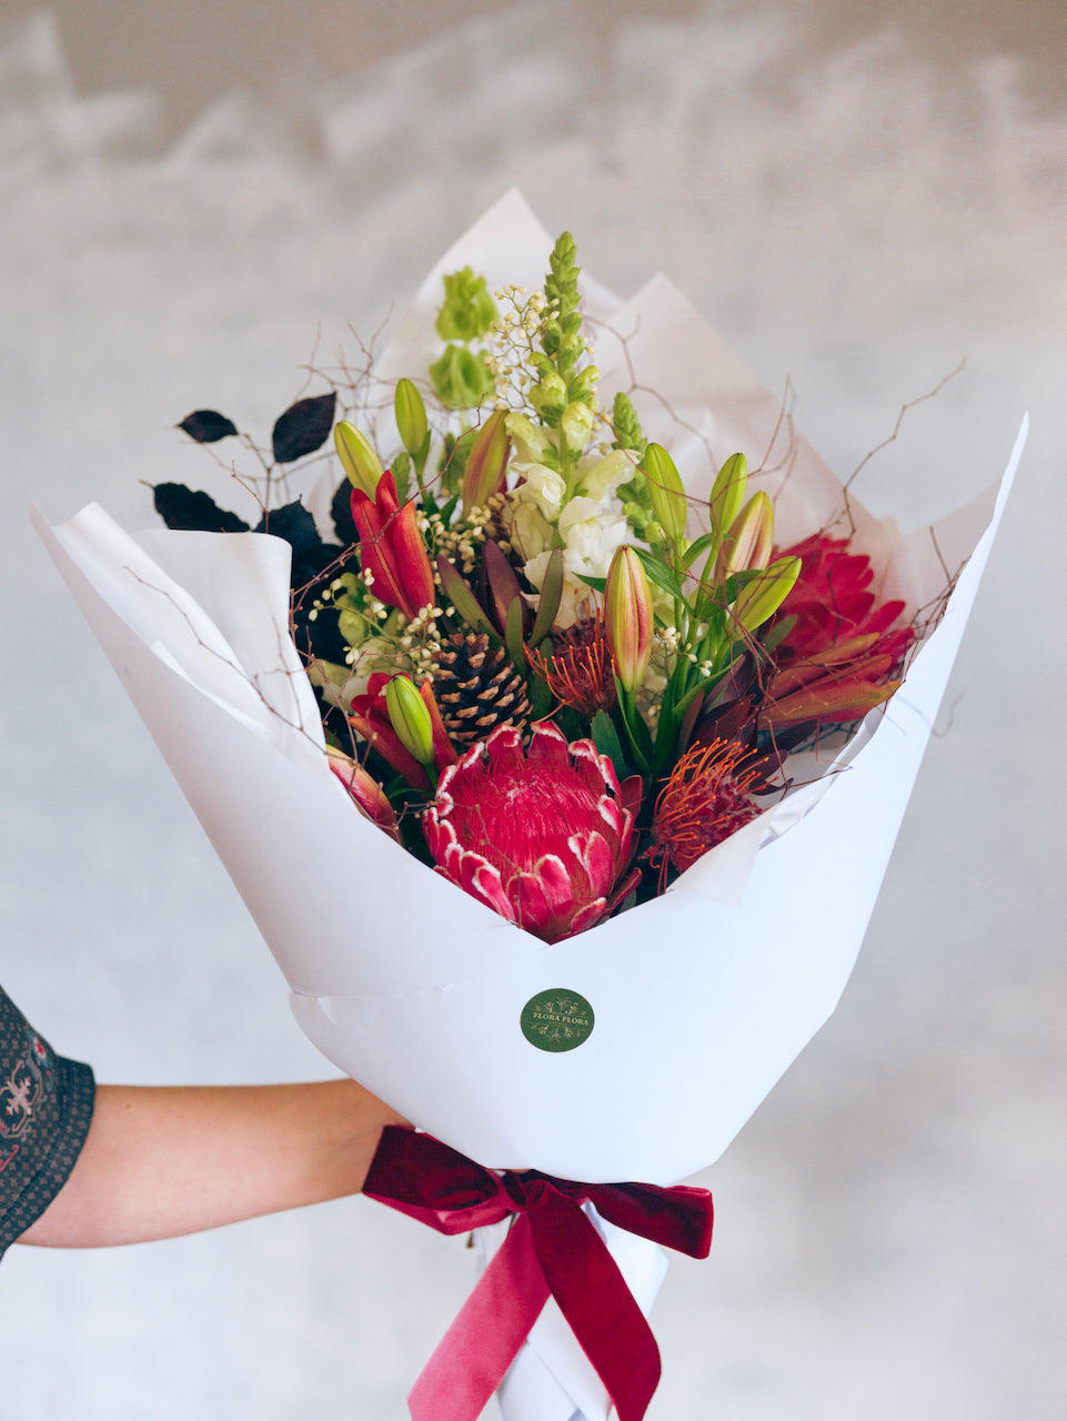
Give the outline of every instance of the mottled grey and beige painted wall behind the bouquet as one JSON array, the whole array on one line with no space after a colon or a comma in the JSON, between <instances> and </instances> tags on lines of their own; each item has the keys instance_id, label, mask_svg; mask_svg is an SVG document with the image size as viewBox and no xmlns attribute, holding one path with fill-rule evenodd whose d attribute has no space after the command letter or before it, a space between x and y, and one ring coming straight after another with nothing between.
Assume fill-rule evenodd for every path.
<instances>
[{"instance_id":1,"label":"mottled grey and beige painted wall behind the bouquet","mask_svg":"<svg viewBox=\"0 0 1067 1421\"><path fill-rule=\"evenodd\" d=\"M311 1079L281 979L26 522L266 432L504 188L662 269L848 473L1002 536L841 1007L702 1181L649 1421L1064 1414L1061 13L848 0L0 13L0 979L101 1079ZM358 892L354 892L358 909ZM825 905L833 912L833 904ZM314 905L308 905L314 922ZM196 1151L196 1140L188 1148ZM470 1255L365 1201L0 1273L10 1421L399 1421Z\"/></svg>"}]
</instances>

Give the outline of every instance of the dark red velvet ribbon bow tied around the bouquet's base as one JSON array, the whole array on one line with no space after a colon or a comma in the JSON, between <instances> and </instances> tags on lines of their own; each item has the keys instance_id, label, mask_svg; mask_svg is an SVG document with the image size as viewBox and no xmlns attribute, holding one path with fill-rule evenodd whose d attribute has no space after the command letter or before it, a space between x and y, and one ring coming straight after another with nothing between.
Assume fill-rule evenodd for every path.
<instances>
[{"instance_id":1,"label":"dark red velvet ribbon bow tied around the bouquet's base","mask_svg":"<svg viewBox=\"0 0 1067 1421\"><path fill-rule=\"evenodd\" d=\"M412 1388L412 1421L476 1421L548 1297L554 1297L611 1397L641 1421L659 1384L659 1349L583 1204L641 1238L708 1258L712 1196L652 1184L577 1184L493 1174L432 1135L386 1125L364 1194L439 1233L516 1215L504 1243Z\"/></svg>"}]
</instances>

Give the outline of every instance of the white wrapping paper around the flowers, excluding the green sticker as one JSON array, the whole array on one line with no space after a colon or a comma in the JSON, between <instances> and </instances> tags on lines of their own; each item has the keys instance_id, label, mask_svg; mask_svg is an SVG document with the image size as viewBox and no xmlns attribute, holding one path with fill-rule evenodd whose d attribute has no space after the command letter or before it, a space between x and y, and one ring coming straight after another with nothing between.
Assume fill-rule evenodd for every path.
<instances>
[{"instance_id":1,"label":"white wrapping paper around the flowers, excluding the green sticker","mask_svg":"<svg viewBox=\"0 0 1067 1421\"><path fill-rule=\"evenodd\" d=\"M377 372L425 368L443 271L470 264L490 287L533 287L550 246L509 195L430 273ZM743 449L750 465L764 460L757 483L776 502L781 543L827 524L848 530L841 486L781 425L779 399L665 279L625 304L590 284L587 300L605 323L594 354L602 389L635 375L664 396L641 401L639 412L690 493L706 493L722 459ZM408 855L330 773L287 635L286 544L165 530L134 539L95 506L55 529L36 522L315 1046L484 1165L671 1184L722 1154L841 995L1023 441L1024 429L999 495L938 524L936 543L929 530L902 540L891 522L850 504L854 546L871 556L884 595L926 607L945 568L963 568L888 708L833 764L817 766L818 779L664 897L551 946ZM577 1050L546 1053L523 1036L520 1013L536 993L560 989L591 1003L595 1026ZM661 1268L635 1265L642 1306ZM568 1349L550 1306L504 1388L514 1421L607 1414Z\"/></svg>"}]
</instances>

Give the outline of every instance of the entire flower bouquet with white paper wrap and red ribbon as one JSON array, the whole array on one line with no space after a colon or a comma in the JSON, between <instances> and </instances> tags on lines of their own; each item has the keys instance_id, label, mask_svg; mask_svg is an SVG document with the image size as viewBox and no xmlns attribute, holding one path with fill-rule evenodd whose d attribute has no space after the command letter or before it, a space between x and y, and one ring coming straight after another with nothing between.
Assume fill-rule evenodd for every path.
<instances>
[{"instance_id":1,"label":"entire flower bouquet with white paper wrap and red ribbon","mask_svg":"<svg viewBox=\"0 0 1067 1421\"><path fill-rule=\"evenodd\" d=\"M618 301L511 193L278 419L259 531L173 485L136 539L38 519L300 1026L433 1137L368 1192L477 1226L413 1414L504 1373L513 1418L644 1414L646 1239L708 1243L666 1187L837 1003L1020 450L902 539L665 279Z\"/></svg>"}]
</instances>

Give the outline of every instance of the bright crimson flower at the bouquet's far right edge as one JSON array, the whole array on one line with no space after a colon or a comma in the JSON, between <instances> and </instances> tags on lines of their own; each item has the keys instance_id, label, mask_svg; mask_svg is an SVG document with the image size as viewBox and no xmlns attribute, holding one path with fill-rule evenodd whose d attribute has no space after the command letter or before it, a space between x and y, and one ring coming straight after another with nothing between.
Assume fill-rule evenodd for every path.
<instances>
[{"instance_id":1,"label":"bright crimson flower at the bouquet's far right edge","mask_svg":"<svg viewBox=\"0 0 1067 1421\"><path fill-rule=\"evenodd\" d=\"M908 649L911 627L894 627L904 603L878 603L871 591L874 568L862 553L848 551L848 539L813 533L776 557L798 557L800 577L779 607L777 621L796 617L779 654L806 658L841 641L877 634L878 654L897 664ZM872 644L871 644L872 645Z\"/></svg>"}]
</instances>

